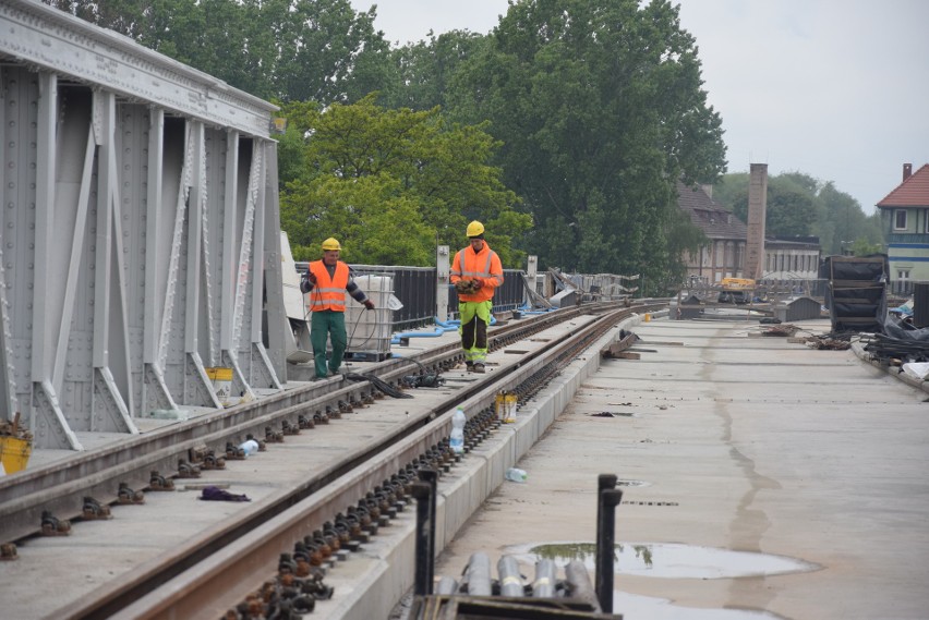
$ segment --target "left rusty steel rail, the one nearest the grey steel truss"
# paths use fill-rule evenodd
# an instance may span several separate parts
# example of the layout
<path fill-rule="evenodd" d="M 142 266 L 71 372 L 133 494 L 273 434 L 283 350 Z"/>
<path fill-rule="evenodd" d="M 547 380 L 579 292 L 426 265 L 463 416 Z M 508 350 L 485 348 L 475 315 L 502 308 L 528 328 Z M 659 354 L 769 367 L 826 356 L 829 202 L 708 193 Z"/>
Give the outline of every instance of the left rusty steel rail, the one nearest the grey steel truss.
<path fill-rule="evenodd" d="M 564 308 L 539 315 L 533 320 L 502 326 L 492 330 L 491 347 L 503 345 L 579 314 L 605 312 L 615 305 L 600 303 Z M 409 374 L 410 361 L 436 370 L 460 357 L 458 344 L 450 343 L 421 354 L 373 364 L 369 372 L 387 382 L 399 384 L 400 378 Z M 263 437 L 266 427 L 279 427 L 281 421 L 295 418 L 301 412 L 338 411 L 339 402 L 360 403 L 375 392 L 370 382 L 314 381 L 177 425 L 130 436 L 58 463 L 4 476 L 0 478 L 0 543 L 36 534 L 46 510 L 61 519 L 74 519 L 81 514 L 85 496 L 110 503 L 117 499 L 120 483 L 132 488 L 145 488 L 153 470 L 166 474 L 174 472 L 178 461 L 190 460 L 194 450 L 214 447 L 217 453 L 222 454 L 227 441 L 238 446 L 249 434 Z"/>

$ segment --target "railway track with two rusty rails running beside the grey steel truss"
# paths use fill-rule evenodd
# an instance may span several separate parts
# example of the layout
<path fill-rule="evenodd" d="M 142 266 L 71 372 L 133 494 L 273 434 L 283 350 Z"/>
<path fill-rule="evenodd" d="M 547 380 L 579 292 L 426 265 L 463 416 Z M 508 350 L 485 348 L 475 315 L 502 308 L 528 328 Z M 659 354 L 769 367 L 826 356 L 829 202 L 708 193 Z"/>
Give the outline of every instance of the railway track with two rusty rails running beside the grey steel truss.
<path fill-rule="evenodd" d="M 177 471 L 179 462 L 186 463 L 188 469 L 202 465 L 195 454 L 209 450 L 222 454 L 227 443 L 239 446 L 249 435 L 273 441 L 274 436 L 282 436 L 288 427 L 299 428 L 303 422 L 301 435 L 283 437 L 285 446 L 293 453 L 282 454 L 281 459 L 290 457 L 305 463 L 305 472 L 293 471 L 291 464 L 290 473 L 295 475 L 280 475 L 279 484 L 264 497 L 256 497 L 248 508 L 238 509 L 205 528 L 193 527 L 193 534 L 185 530 L 188 533 L 178 544 L 149 554 L 145 561 L 122 571 L 118 579 L 102 581 L 79 600 L 67 601 L 49 616 L 217 617 L 274 574 L 280 554 L 292 549 L 297 540 L 316 531 L 324 533 L 324 538 L 331 536 L 337 533 L 336 525 L 342 530 L 358 525 L 359 514 L 365 511 L 367 516 L 379 512 L 373 527 L 369 526 L 369 531 L 376 531 L 378 522 L 386 525 L 401 511 L 403 502 L 397 495 L 402 495 L 405 481 L 415 476 L 418 467 L 450 470 L 453 465 L 444 451 L 449 429 L 445 413 L 455 405 L 463 404 L 469 412 L 479 412 L 472 413 L 469 423 L 470 440 L 486 437 L 493 424 L 492 404 L 499 391 L 516 391 L 521 402 L 531 398 L 560 367 L 624 317 L 654 312 L 664 305 L 661 301 L 619 309 L 608 304 L 590 305 L 494 328 L 491 349 L 507 354 L 503 355 L 504 362 L 480 380 L 451 370 L 460 362 L 459 348 L 454 341 L 366 368 L 369 376 L 376 376 L 396 389 L 403 377 L 417 370 L 445 373 L 449 377 L 445 388 L 415 390 L 415 406 L 407 399 L 382 398 L 371 380 L 330 379 L 10 476 L 0 481 L 2 539 L 24 542 L 23 549 L 28 549 L 28 539 L 24 537 L 36 533 L 43 511 L 55 511 L 62 519 L 77 516 L 80 508 L 75 507 L 82 506 L 84 497 L 96 497 L 102 504 L 116 502 L 120 483 L 144 488 L 152 481 L 153 471 L 164 472 L 172 483 L 194 490 L 210 481 L 230 478 L 229 472 L 238 466 L 231 460 L 225 470 L 203 472 L 203 478 L 179 478 L 171 472 Z M 515 348 L 517 343 L 519 349 Z M 317 428 L 306 428 L 311 420 Z M 328 445 L 338 445 L 337 455 L 325 451 Z M 282 449 L 269 443 L 267 453 Z M 260 459 L 254 462 L 257 464 Z M 249 483 L 232 486 L 241 484 Z M 161 501 L 170 495 L 147 493 L 146 500 L 150 498 L 154 503 L 156 498 Z M 387 497 L 391 501 L 386 501 Z M 121 506 L 117 508 L 123 510 Z M 119 516 L 122 521 L 122 515 Z M 329 534 L 325 534 L 327 526 Z M 84 527 L 79 521 L 73 535 L 81 534 Z M 357 547 L 358 540 L 355 537 L 347 546 Z M 341 551 L 333 559 L 345 556 L 345 549 Z M 248 561 L 241 561 L 243 557 Z M 9 570 L 0 569 L 2 581 L 14 584 L 17 564 L 27 560 L 23 557 L 17 562 L 4 562 L 2 569 Z M 12 592 L 9 587 L 3 589 Z"/>

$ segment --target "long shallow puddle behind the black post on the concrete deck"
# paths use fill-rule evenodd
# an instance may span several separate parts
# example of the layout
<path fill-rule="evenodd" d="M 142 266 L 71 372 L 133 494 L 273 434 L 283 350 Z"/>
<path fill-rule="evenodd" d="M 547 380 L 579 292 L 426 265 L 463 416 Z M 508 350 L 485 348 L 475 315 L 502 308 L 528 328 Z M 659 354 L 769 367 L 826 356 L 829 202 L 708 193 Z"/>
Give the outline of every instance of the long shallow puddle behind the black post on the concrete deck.
<path fill-rule="evenodd" d="M 588 570 L 596 568 L 594 543 L 529 543 L 508 547 L 505 552 L 520 562 L 534 564 L 547 558 L 564 567 L 580 560 Z M 634 574 L 666 579 L 731 579 L 767 576 L 818 570 L 817 564 L 784 556 L 731 551 L 714 547 L 697 547 L 675 543 L 617 543 L 614 548 L 617 575 Z"/>

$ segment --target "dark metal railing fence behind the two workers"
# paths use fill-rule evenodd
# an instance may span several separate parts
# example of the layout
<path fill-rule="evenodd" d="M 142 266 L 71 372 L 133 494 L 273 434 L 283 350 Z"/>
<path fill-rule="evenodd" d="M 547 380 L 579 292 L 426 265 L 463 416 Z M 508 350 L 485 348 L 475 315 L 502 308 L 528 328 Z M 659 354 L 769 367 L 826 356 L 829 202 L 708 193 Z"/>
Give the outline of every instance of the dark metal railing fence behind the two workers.
<path fill-rule="evenodd" d="M 297 263 L 297 272 L 303 273 L 307 263 Z M 393 293 L 403 307 L 394 311 L 394 331 L 402 331 L 435 323 L 436 268 L 394 267 L 387 265 L 350 265 L 352 276 L 384 276 L 393 280 Z M 524 272 L 504 269 L 504 283 L 494 293 L 494 313 L 514 311 L 526 300 Z M 458 293 L 448 284 L 448 318 L 458 316 Z"/>

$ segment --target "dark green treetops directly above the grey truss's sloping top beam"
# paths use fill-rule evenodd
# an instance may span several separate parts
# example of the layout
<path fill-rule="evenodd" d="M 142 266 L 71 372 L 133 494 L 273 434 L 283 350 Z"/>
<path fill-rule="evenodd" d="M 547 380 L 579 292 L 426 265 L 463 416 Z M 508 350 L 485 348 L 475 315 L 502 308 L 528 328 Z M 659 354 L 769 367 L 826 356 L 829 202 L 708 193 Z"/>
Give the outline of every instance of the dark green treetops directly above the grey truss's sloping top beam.
<path fill-rule="evenodd" d="M 357 101 L 399 76 L 349 0 L 46 0 L 265 99 Z"/>

